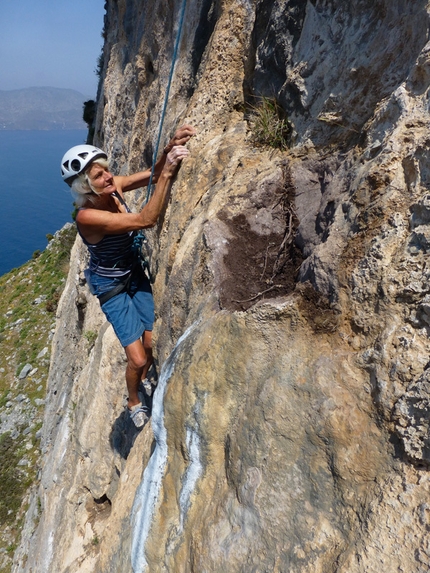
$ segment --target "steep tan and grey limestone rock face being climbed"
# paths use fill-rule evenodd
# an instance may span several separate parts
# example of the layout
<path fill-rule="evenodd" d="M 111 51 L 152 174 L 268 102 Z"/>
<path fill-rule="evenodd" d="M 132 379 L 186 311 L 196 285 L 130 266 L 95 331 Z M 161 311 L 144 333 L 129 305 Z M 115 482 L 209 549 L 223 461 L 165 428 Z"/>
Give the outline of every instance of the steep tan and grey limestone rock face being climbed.
<path fill-rule="evenodd" d="M 180 10 L 107 2 L 113 171 L 151 161 Z M 421 0 L 186 7 L 163 137 L 198 134 L 149 233 L 151 425 L 124 418 L 77 242 L 15 573 L 429 570 L 428 21 Z M 254 142 L 261 97 L 286 150 Z"/>

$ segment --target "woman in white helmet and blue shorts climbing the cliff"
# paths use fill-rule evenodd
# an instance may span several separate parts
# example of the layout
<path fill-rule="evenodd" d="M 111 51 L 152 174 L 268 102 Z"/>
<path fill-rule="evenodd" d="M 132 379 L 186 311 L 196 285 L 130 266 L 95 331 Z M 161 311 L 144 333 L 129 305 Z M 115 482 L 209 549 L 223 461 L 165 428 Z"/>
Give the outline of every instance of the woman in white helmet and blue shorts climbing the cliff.
<path fill-rule="evenodd" d="M 148 184 L 151 170 L 115 176 L 109 172 L 107 155 L 91 145 L 69 149 L 61 161 L 64 181 L 78 206 L 76 224 L 90 252 L 88 283 L 125 349 L 128 412 L 142 427 L 147 409 L 139 385 L 152 364 L 154 303 L 151 286 L 133 248 L 136 232 L 153 227 L 166 203 L 180 163 L 188 156 L 184 145 L 195 130 L 184 125 L 164 148 L 155 164 L 155 191 L 139 213 L 132 213 L 124 193 Z"/>

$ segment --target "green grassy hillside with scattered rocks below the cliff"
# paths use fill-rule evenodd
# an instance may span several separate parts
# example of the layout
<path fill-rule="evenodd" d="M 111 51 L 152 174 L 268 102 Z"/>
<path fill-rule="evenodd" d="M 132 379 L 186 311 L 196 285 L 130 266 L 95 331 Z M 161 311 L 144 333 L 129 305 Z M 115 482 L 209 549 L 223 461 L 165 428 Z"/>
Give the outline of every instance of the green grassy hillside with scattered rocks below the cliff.
<path fill-rule="evenodd" d="M 75 237 L 75 225 L 67 224 L 42 253 L 0 277 L 1 573 L 10 572 L 37 481 L 50 340 Z"/>

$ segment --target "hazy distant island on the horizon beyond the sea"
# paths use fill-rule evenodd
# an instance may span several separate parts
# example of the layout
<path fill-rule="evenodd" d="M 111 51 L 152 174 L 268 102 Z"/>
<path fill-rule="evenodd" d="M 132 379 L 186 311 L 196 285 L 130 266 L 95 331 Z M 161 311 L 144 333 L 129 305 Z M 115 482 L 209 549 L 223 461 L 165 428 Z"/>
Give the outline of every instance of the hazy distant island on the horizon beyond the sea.
<path fill-rule="evenodd" d="M 91 99 L 75 90 L 34 87 L 0 90 L 0 129 L 88 129 L 83 104 Z"/>

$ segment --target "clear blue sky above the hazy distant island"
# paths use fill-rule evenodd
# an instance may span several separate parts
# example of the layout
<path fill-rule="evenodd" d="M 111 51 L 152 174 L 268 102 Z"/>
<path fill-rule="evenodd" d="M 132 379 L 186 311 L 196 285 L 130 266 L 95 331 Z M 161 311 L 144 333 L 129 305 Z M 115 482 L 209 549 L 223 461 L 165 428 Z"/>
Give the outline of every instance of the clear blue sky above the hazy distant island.
<path fill-rule="evenodd" d="M 0 0 L 0 90 L 68 88 L 96 97 L 105 0 Z"/>

